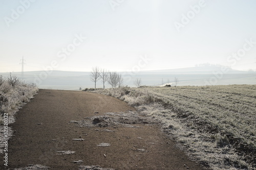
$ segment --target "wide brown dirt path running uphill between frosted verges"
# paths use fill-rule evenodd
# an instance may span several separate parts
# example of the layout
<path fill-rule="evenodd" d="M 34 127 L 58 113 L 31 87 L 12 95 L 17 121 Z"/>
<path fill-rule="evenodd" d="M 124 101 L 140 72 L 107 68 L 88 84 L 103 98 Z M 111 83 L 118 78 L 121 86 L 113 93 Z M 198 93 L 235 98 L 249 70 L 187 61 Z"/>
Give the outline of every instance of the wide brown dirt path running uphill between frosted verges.
<path fill-rule="evenodd" d="M 15 136 L 8 143 L 11 151 L 8 168 L 41 164 L 49 169 L 85 169 L 81 165 L 113 169 L 202 169 L 174 148 L 174 142 L 156 125 L 138 118 L 132 111 L 135 109 L 111 96 L 39 90 L 18 111 L 16 122 L 11 125 Z M 115 118 L 113 113 L 119 117 Z M 129 122 L 125 114 L 137 119 Z M 97 146 L 100 143 L 110 146 Z M 66 155 L 57 151 L 75 153 Z M 82 162 L 72 162 L 78 160 Z M 7 169 L 3 155 L 1 162 L 0 169 Z"/>

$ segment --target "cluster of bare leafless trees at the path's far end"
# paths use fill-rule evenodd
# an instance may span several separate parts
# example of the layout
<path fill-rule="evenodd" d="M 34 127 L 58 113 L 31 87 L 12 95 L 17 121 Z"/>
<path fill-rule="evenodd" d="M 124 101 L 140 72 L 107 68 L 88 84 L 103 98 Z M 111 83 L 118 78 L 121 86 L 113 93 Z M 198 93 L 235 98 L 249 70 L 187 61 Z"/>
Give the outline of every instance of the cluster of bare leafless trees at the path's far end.
<path fill-rule="evenodd" d="M 94 82 L 94 88 L 96 88 L 96 83 L 101 80 L 103 83 L 103 88 L 105 88 L 105 83 L 108 83 L 112 88 L 120 87 L 123 84 L 122 75 L 118 74 L 116 71 L 107 71 L 99 67 L 93 67 L 90 74 L 91 81 Z"/>

